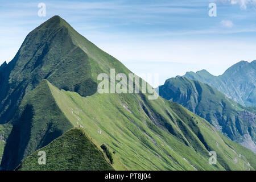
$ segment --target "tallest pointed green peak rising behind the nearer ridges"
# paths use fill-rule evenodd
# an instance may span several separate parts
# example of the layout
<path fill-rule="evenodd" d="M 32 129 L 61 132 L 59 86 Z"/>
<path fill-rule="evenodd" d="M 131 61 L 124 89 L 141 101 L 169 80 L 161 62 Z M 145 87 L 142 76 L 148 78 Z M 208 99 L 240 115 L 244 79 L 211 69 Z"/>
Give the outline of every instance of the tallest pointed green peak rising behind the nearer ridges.
<path fill-rule="evenodd" d="M 31 31 L 14 59 L 9 64 L 3 63 L 0 67 L 0 128 L 3 128 L 3 130 L 0 130 L 0 135 L 4 135 L 5 140 L 8 138 L 10 141 L 14 139 L 13 137 L 19 136 L 15 134 L 15 129 L 18 126 L 13 127 L 13 123 L 15 125 L 18 125 L 16 123 L 23 124 L 22 121 L 13 122 L 17 120 L 14 116 L 18 117 L 18 113 L 20 113 L 18 107 L 23 97 L 34 90 L 44 78 L 47 78 L 60 89 L 71 90 L 85 97 L 96 92 L 97 75 L 104 71 L 109 73 L 109 68 L 115 68 L 123 73 L 129 72 L 117 59 L 101 51 L 79 35 L 65 20 L 59 16 L 53 16 Z M 42 107 L 47 109 L 47 106 Z M 27 106 L 25 111 L 27 114 L 33 114 L 30 105 Z M 29 126 L 27 125 L 27 127 Z M 69 124 L 65 127 L 70 128 Z M 30 131 L 29 128 L 27 130 Z M 53 127 L 52 130 L 53 133 L 59 132 L 56 127 Z M 61 131 L 59 135 L 62 133 Z M 59 137 L 59 135 L 54 135 L 48 142 Z M 40 138 L 42 137 L 44 136 L 40 136 Z M 0 158 L 2 158 L 5 144 L 6 142 L 1 142 Z M 7 148 L 10 147 L 7 146 Z M 12 147 L 15 148 L 15 144 Z M 39 147 L 42 146 L 34 146 L 32 151 Z M 28 154 L 31 152 L 28 152 Z M 7 153 L 7 156 L 11 155 Z M 15 161 L 18 162 L 24 156 L 23 154 L 16 156 Z M 9 160 L 9 157 L 7 160 Z M 15 166 L 16 162 L 5 164 L 7 163 L 5 160 L 2 162 L 2 166 Z"/>

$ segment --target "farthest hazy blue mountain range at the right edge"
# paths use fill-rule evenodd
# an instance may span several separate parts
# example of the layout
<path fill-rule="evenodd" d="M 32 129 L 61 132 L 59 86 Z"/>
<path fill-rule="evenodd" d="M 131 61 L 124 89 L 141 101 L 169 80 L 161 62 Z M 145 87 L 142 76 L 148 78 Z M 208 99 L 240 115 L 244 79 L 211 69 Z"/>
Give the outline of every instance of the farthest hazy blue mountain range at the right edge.
<path fill-rule="evenodd" d="M 240 61 L 220 76 L 213 76 L 206 70 L 187 72 L 184 76 L 213 86 L 243 106 L 256 106 L 255 75 L 256 60 Z"/>

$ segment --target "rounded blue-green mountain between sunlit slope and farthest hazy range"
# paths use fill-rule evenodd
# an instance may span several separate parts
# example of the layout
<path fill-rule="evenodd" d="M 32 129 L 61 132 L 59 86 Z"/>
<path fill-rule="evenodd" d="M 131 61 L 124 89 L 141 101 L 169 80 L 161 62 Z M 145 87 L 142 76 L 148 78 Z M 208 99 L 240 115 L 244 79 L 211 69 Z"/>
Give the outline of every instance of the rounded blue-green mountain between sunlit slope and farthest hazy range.
<path fill-rule="evenodd" d="M 199 81 L 176 77 L 159 86 L 159 95 L 207 119 L 224 135 L 256 152 L 256 114 L 218 90 Z"/>

